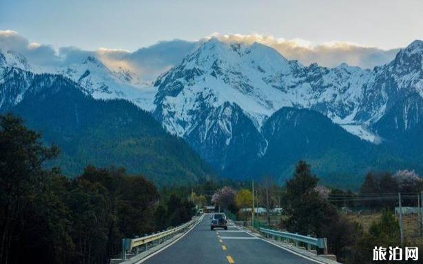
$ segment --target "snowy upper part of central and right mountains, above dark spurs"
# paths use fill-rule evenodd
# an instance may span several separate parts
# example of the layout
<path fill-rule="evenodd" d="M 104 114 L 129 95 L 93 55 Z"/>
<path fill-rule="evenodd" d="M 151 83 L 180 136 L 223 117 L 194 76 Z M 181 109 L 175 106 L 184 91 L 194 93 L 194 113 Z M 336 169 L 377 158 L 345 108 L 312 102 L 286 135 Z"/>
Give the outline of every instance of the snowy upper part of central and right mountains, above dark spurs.
<path fill-rule="evenodd" d="M 422 45 L 414 41 L 391 63 L 362 70 L 344 63 L 305 67 L 262 44 L 211 39 L 156 81 L 156 116 L 169 132 L 184 136 L 203 110 L 200 97 L 209 108 L 236 103 L 258 129 L 282 107 L 308 108 L 375 141 L 369 127 L 387 108 L 409 92 L 423 94 Z"/>

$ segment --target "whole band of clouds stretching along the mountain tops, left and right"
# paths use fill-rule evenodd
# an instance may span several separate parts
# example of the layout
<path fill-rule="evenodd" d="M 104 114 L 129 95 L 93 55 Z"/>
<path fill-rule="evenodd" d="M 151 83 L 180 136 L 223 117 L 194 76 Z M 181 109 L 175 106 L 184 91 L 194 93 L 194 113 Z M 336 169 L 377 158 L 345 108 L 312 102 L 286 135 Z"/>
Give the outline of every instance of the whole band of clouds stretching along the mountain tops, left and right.
<path fill-rule="evenodd" d="M 97 57 L 111 70 L 127 68 L 141 79 L 152 81 L 159 74 L 178 64 L 187 54 L 194 51 L 202 41 L 216 37 L 220 41 L 243 43 L 262 43 L 276 49 L 287 59 L 297 59 L 304 65 L 318 63 L 327 67 L 336 67 L 348 63 L 362 68 L 373 68 L 391 61 L 398 49 L 381 50 L 375 47 L 342 41 L 313 43 L 305 39 L 276 39 L 271 35 L 260 34 L 218 34 L 214 33 L 200 41 L 161 41 L 147 48 L 134 52 L 112 48 L 99 50 L 81 50 L 76 47 L 63 47 L 54 50 L 51 45 L 31 43 L 18 32 L 0 30 L 0 49 L 13 50 L 27 57 L 34 65 L 46 67 L 69 63 L 80 63 L 88 56 Z"/>

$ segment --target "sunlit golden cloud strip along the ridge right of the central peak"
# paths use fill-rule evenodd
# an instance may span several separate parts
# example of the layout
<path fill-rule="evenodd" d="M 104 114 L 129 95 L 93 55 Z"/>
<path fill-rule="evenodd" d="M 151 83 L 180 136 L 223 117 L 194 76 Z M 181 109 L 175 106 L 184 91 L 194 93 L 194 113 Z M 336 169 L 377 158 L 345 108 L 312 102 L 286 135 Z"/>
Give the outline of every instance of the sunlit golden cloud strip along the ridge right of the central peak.
<path fill-rule="evenodd" d="M 362 68 L 373 68 L 391 61 L 399 49 L 381 50 L 357 43 L 330 41 L 313 43 L 304 39 L 276 39 L 260 34 L 211 34 L 220 41 L 241 41 L 244 43 L 262 43 L 278 50 L 287 59 L 296 59 L 304 65 L 318 63 L 326 67 L 336 67 L 347 63 Z"/>

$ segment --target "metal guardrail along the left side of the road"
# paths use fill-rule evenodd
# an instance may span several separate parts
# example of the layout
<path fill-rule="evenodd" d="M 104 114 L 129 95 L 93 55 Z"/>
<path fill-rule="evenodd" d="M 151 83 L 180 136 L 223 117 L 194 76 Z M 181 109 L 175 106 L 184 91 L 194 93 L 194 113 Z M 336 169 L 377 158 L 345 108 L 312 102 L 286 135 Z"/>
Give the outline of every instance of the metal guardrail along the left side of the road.
<path fill-rule="evenodd" d="M 198 221 L 198 217 L 194 217 L 194 219 L 187 223 L 184 223 L 183 225 L 179 225 L 163 232 L 150 234 L 148 236 L 143 236 L 140 238 L 123 238 L 122 259 L 125 260 L 127 252 L 132 252 L 132 249 L 134 249 L 134 247 L 136 248 L 135 254 L 138 254 L 138 247 L 142 245 L 145 245 L 145 250 L 148 250 L 148 243 L 153 243 L 153 246 L 155 242 L 158 242 L 158 244 L 160 244 L 161 242 L 165 241 L 166 238 L 174 236 L 175 234 L 178 234 L 178 232 L 182 232 L 183 230 L 187 229 L 187 227 L 192 226 L 194 223 L 196 223 L 196 221 Z"/>

